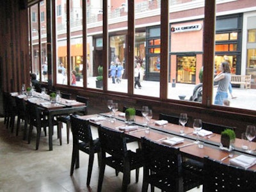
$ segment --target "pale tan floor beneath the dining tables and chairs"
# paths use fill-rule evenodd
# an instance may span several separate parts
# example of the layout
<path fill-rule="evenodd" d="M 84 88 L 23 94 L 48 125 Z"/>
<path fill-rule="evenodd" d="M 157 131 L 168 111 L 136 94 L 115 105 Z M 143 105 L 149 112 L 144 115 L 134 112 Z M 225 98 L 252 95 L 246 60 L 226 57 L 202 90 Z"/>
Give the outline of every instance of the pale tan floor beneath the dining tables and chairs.
<path fill-rule="evenodd" d="M 53 150 L 48 150 L 47 137 L 42 134 L 39 150 L 35 150 L 35 130 L 31 141 L 22 140 L 22 131 L 15 136 L 6 129 L 3 118 L 0 118 L 0 192 L 14 191 L 97 191 L 99 168 L 97 156 L 93 164 L 92 180 L 90 187 L 86 186 L 88 155 L 80 152 L 80 168 L 74 171 L 70 177 L 70 162 L 72 154 L 72 134 L 70 144 L 67 144 L 65 127 L 62 131 L 63 144 L 60 146 L 57 140 L 56 129 L 53 135 Z M 23 127 L 23 124 L 22 126 Z M 97 134 L 96 129 L 92 129 Z M 136 145 L 129 144 L 129 147 Z M 127 191 L 141 191 L 143 169 L 140 169 L 139 182 L 136 183 L 135 172 L 131 173 L 131 184 Z M 115 171 L 106 166 L 102 191 L 121 191 L 122 173 L 118 177 Z M 150 191 L 148 189 L 148 191 Z M 155 191 L 160 191 L 155 189 Z M 191 191 L 202 191 L 202 188 Z"/>

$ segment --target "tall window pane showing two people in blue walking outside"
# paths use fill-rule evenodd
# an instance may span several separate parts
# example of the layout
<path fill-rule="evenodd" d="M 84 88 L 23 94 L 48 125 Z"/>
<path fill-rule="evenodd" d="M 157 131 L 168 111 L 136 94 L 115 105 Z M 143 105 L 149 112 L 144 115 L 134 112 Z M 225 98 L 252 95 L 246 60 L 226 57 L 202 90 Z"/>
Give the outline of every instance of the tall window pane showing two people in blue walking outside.
<path fill-rule="evenodd" d="M 125 63 L 125 56 L 127 52 L 126 36 L 127 36 L 127 1 L 111 1 L 108 0 L 110 14 L 108 17 L 108 28 L 113 29 L 114 26 L 122 28 L 116 33 L 109 33 L 109 78 L 108 90 L 113 92 L 127 93 L 127 76 L 125 69 L 127 65 L 132 63 Z M 125 30 L 126 29 L 126 30 Z"/>

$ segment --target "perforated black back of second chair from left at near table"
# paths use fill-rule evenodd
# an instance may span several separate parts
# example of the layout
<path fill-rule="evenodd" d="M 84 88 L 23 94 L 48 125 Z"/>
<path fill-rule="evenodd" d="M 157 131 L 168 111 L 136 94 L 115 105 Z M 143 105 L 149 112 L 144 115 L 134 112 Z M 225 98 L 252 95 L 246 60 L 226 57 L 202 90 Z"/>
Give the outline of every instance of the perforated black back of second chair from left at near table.
<path fill-rule="evenodd" d="M 127 156 L 127 147 L 124 133 L 108 129 L 99 125 L 99 140 L 102 155 L 105 156 L 106 152 L 113 157 L 122 159 Z"/>

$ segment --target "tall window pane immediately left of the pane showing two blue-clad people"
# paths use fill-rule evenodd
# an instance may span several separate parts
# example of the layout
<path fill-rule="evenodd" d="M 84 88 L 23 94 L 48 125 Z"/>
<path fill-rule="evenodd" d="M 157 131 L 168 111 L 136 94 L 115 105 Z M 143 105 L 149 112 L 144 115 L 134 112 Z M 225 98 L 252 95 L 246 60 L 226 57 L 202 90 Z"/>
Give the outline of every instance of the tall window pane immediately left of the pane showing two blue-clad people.
<path fill-rule="evenodd" d="M 86 22 L 87 22 L 87 87 L 102 89 L 102 54 L 103 54 L 103 1 L 87 1 Z M 97 36 L 93 36 L 97 31 Z M 99 70 L 98 70 L 99 69 Z"/>

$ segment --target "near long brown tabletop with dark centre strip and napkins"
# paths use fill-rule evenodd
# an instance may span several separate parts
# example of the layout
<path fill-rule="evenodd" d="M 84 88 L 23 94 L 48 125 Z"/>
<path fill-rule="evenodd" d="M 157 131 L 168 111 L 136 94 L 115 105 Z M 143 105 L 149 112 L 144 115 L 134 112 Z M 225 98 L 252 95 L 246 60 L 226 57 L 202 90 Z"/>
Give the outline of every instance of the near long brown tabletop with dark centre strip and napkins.
<path fill-rule="evenodd" d="M 102 125 L 104 127 L 108 127 L 111 129 L 119 130 L 120 127 L 125 126 L 125 118 L 124 116 L 119 116 L 120 111 L 116 112 L 115 118 L 116 120 L 113 121 L 112 117 L 109 113 L 100 113 L 95 115 L 84 115 L 80 118 L 90 120 L 90 124 L 92 125 Z M 100 121 L 93 121 L 93 118 L 97 117 L 104 117 Z M 103 120 L 104 119 L 104 120 Z M 167 138 L 177 137 L 177 138 L 184 138 L 184 142 L 179 143 L 177 145 L 173 145 L 173 147 L 180 148 L 180 152 L 184 157 L 188 157 L 191 159 L 195 159 L 196 161 L 204 162 L 204 157 L 208 156 L 212 159 L 216 159 L 218 161 L 222 161 L 222 163 L 229 164 L 229 159 L 226 158 L 222 160 L 224 157 L 227 157 L 230 153 L 233 154 L 233 157 L 237 157 L 241 154 L 249 156 L 249 157 L 256 157 L 256 143 L 252 142 L 252 152 L 248 153 L 246 150 L 241 148 L 241 139 L 236 138 L 235 148 L 232 151 L 221 150 L 220 149 L 220 134 L 212 133 L 212 136 L 204 136 L 200 137 L 201 141 L 204 141 L 204 148 L 199 148 L 194 142 L 196 140 L 196 135 L 194 129 L 191 127 L 185 127 L 184 132 L 185 135 L 182 136 L 179 133 L 180 126 L 176 124 L 165 124 L 165 125 L 156 125 L 155 122 L 157 120 L 150 120 L 148 123 L 148 128 L 143 125 L 144 120 L 142 116 L 136 116 L 136 122 L 134 125 L 138 127 L 134 131 L 127 131 L 125 132 L 125 136 L 128 138 L 132 138 L 138 140 L 140 142 L 141 137 L 149 138 L 152 141 L 157 141 L 161 143 L 163 140 Z M 256 170 L 256 164 L 251 166 L 250 169 Z"/>

